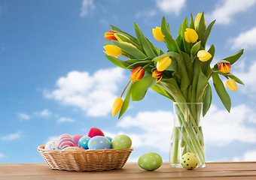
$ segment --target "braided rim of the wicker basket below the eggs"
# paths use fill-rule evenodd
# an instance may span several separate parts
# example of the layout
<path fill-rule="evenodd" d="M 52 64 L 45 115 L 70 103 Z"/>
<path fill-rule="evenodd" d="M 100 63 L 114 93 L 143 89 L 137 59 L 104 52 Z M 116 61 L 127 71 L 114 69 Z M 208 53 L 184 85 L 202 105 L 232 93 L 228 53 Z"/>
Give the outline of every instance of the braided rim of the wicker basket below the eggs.
<path fill-rule="evenodd" d="M 44 153 L 104 153 L 104 152 L 113 152 L 113 151 L 133 151 L 133 147 L 130 148 L 108 148 L 108 149 L 85 149 L 81 151 L 62 151 L 62 150 L 49 150 L 44 149 L 44 145 L 38 146 L 38 151 L 43 151 Z"/>

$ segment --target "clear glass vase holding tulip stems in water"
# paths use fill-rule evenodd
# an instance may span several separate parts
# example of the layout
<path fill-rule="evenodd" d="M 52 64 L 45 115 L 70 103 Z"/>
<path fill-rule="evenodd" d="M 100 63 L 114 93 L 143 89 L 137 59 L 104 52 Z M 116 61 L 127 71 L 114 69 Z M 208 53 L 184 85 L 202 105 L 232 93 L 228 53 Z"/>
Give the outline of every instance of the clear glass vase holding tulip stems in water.
<path fill-rule="evenodd" d="M 203 103 L 174 103 L 174 127 L 169 151 L 169 162 L 172 167 L 181 167 L 181 156 L 187 152 L 197 154 L 200 163 L 205 167 L 205 148 L 203 131 L 200 125 Z"/>

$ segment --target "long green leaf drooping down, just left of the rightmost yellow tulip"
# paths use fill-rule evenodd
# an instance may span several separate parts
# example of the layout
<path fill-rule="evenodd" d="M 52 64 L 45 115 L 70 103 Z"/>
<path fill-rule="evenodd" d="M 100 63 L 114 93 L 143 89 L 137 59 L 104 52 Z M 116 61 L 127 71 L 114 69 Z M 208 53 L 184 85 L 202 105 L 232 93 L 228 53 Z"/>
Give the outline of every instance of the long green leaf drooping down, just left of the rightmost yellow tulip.
<path fill-rule="evenodd" d="M 221 102 L 226 108 L 226 110 L 230 112 L 230 108 L 231 108 L 230 95 L 228 95 L 221 81 L 221 78 L 218 77 L 218 74 L 212 74 L 212 80 L 213 80 L 213 85 L 215 86 L 215 91 L 218 94 L 218 97 L 221 99 Z"/>

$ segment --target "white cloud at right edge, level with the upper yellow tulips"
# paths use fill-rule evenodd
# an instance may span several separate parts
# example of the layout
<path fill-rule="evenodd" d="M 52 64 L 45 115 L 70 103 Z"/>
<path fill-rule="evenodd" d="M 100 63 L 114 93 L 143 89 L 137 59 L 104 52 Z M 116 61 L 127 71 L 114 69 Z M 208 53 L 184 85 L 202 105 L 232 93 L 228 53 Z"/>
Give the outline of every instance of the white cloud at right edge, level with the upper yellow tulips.
<path fill-rule="evenodd" d="M 238 37 L 229 40 L 231 49 L 255 49 L 256 48 L 256 26 L 248 31 L 241 32 Z"/>

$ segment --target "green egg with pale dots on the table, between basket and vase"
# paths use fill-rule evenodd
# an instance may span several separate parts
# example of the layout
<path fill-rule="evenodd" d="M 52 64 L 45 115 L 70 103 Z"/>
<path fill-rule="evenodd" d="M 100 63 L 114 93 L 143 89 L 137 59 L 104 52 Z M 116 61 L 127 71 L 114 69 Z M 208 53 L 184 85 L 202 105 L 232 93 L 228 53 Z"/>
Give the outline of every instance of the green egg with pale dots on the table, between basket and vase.
<path fill-rule="evenodd" d="M 162 157 L 155 152 L 148 152 L 139 157 L 138 164 L 142 169 L 152 171 L 162 165 Z"/>

